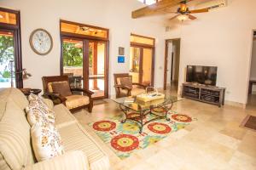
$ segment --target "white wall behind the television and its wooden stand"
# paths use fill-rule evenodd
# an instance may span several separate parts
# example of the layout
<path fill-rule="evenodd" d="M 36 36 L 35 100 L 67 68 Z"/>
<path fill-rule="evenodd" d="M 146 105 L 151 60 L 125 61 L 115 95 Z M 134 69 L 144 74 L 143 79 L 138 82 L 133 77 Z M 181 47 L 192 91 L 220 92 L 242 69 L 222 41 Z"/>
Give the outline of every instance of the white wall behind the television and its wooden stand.
<path fill-rule="evenodd" d="M 181 37 L 179 86 L 186 65 L 216 65 L 217 85 L 227 88 L 226 99 L 247 103 L 255 7 L 255 0 L 231 0 L 228 7 L 195 14 L 198 20 L 182 26 L 169 23 L 166 39 Z"/>

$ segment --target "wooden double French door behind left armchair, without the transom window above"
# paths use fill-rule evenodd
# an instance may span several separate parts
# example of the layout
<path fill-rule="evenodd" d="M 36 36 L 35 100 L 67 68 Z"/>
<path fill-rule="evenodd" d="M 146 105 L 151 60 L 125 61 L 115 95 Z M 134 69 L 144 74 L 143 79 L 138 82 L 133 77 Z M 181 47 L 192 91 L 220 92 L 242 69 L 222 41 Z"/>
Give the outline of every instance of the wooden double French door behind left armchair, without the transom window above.
<path fill-rule="evenodd" d="M 61 74 L 73 88 L 89 89 L 93 99 L 108 98 L 108 42 L 61 37 Z"/>

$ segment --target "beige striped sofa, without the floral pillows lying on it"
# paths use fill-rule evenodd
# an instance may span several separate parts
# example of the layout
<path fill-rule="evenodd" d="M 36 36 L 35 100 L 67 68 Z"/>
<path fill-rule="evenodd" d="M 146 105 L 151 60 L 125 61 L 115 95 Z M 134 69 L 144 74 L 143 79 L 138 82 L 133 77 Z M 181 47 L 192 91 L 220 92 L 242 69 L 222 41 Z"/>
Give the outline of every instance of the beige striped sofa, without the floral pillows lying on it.
<path fill-rule="evenodd" d="M 108 169 L 108 156 L 64 105 L 53 105 L 55 126 L 61 134 L 65 154 L 48 161 L 35 161 L 30 125 L 24 109 L 26 96 L 16 88 L 0 89 L 0 169 Z"/>

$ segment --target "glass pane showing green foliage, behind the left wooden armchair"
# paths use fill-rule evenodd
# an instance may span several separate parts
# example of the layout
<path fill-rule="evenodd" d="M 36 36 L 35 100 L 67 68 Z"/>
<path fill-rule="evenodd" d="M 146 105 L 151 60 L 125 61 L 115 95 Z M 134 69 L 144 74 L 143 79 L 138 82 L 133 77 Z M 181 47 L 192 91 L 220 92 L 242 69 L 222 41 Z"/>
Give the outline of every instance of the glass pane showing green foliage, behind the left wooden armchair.
<path fill-rule="evenodd" d="M 83 83 L 83 41 L 64 39 L 63 74 L 69 77 L 71 88 L 84 88 Z"/>

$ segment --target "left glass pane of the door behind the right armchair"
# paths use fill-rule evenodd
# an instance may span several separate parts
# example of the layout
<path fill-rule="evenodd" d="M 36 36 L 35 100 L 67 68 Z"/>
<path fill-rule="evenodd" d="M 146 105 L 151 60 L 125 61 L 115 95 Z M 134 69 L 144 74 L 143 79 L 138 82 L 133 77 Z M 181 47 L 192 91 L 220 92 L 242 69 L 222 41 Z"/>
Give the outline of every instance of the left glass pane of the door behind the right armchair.
<path fill-rule="evenodd" d="M 132 82 L 139 82 L 140 48 L 130 48 L 130 75 Z"/>

